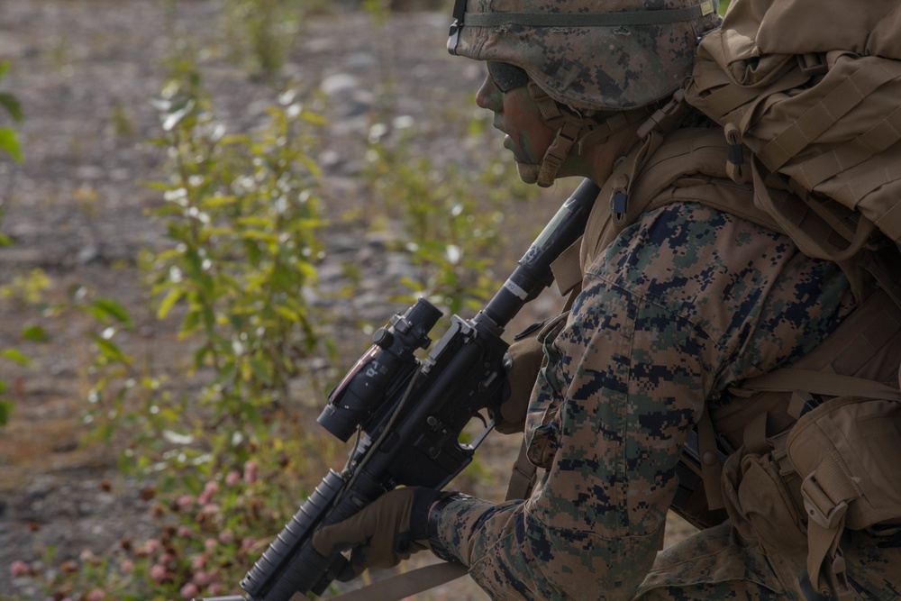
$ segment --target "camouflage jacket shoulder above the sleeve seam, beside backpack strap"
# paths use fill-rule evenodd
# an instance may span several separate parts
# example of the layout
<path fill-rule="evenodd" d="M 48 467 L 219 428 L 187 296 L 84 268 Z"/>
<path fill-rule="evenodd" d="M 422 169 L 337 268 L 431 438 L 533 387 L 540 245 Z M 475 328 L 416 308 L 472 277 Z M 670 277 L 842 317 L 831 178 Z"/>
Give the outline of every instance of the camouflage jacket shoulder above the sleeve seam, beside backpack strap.
<path fill-rule="evenodd" d="M 613 287 L 725 343 L 734 317 L 753 319 L 797 255 L 783 234 L 698 203 L 673 203 L 623 230 L 586 270 L 583 289 L 591 296 Z"/>

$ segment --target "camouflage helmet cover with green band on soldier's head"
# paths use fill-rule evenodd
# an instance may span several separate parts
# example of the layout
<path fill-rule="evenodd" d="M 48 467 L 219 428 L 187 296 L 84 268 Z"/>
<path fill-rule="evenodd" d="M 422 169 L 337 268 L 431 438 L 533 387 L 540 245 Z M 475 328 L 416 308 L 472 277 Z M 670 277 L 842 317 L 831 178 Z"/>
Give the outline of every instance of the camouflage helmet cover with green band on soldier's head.
<path fill-rule="evenodd" d="M 691 73 L 718 0 L 457 0 L 451 54 L 525 69 L 558 102 L 627 109 Z"/>

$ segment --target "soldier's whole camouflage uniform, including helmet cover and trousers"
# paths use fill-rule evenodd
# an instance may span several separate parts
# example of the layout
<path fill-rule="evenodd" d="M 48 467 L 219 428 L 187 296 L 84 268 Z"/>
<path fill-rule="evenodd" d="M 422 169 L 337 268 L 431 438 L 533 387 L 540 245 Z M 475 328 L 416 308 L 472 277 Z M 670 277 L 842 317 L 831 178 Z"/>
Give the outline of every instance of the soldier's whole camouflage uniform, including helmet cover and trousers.
<path fill-rule="evenodd" d="M 549 185 L 548 165 L 604 143 L 584 109 L 635 114 L 678 88 L 696 38 L 720 23 L 716 5 L 468 0 L 448 48 L 523 68 L 571 117 L 544 117 L 559 128 L 537 180 Z M 606 126 L 618 114 L 592 115 Z M 657 552 L 681 445 L 705 403 L 742 403 L 730 384 L 803 357 L 855 307 L 835 264 L 693 202 L 700 195 L 680 185 L 670 196 L 685 202 L 642 214 L 591 263 L 565 321 L 542 332 L 548 362 L 525 434 L 545 471 L 531 498 L 463 499 L 441 513 L 441 541 L 493 598 L 797 597 L 805 557 L 765 555 L 728 523 Z M 899 547 L 898 533 L 846 533 L 862 598 L 901 596 Z"/>

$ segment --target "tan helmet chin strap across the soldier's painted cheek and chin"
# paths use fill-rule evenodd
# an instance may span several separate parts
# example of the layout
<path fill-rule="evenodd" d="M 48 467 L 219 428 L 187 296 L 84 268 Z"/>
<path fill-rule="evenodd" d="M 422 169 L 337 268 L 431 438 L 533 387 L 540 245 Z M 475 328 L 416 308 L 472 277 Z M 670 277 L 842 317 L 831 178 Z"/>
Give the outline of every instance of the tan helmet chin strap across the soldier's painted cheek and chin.
<path fill-rule="evenodd" d="M 557 130 L 551 146 L 544 153 L 542 162 L 537 165 L 518 164 L 520 178 L 526 183 L 537 183 L 540 187 L 549 187 L 557 178 L 557 172 L 569 157 L 573 147 L 581 152 L 586 142 L 602 143 L 615 132 L 619 132 L 633 123 L 647 119 L 647 110 L 616 111 L 605 119 L 584 117 L 567 106 L 560 105 L 551 98 L 542 87 L 533 81 L 529 82 L 529 94 L 538 105 L 544 123 Z"/>

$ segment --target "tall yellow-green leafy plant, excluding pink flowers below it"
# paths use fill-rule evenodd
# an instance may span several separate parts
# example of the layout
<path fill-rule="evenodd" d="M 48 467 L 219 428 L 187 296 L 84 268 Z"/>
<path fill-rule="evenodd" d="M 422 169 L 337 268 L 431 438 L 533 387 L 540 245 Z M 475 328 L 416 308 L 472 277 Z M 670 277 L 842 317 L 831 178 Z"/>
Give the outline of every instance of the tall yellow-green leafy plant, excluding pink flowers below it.
<path fill-rule="evenodd" d="M 141 264 L 159 319 L 181 316 L 188 376 L 200 384 L 186 390 L 148 373 L 107 329 L 96 336 L 91 419 L 106 439 L 134 434 L 129 463 L 208 478 L 247 460 L 279 417 L 293 419 L 289 382 L 311 354 L 330 353 L 318 332 L 325 317 L 306 300 L 323 252 L 318 169 L 307 155 L 321 121 L 285 94 L 262 131 L 227 134 L 190 69 L 158 106 L 171 176 L 152 185 L 165 199 L 154 214 L 171 246 Z"/>

